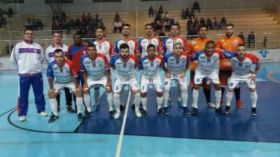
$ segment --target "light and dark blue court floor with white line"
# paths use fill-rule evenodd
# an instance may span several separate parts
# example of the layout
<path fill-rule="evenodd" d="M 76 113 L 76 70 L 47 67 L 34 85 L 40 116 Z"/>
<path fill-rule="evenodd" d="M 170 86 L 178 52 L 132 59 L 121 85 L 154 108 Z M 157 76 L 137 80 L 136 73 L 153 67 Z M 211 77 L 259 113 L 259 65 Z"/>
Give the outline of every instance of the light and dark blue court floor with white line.
<path fill-rule="evenodd" d="M 150 90 L 148 117 L 137 119 L 130 102 L 121 119 L 110 119 L 102 90 L 101 107 L 93 117 L 78 122 L 76 114 L 66 112 L 62 94 L 59 119 L 48 124 L 49 117 L 36 115 L 31 90 L 27 121 L 18 121 L 17 73 L 0 71 L 0 156 L 279 157 L 280 63 L 263 63 L 257 78 L 258 117 L 251 117 L 251 100 L 244 85 L 241 87 L 243 110 L 237 110 L 233 98 L 228 116 L 216 114 L 206 107 L 201 90 L 197 117 L 181 112 L 176 105 L 174 87 L 169 116 L 156 114 L 155 93 Z M 46 79 L 44 84 L 44 94 L 48 94 Z M 188 90 L 190 108 L 192 96 Z M 125 97 L 128 96 L 126 91 Z M 45 100 L 50 114 L 48 96 Z"/>

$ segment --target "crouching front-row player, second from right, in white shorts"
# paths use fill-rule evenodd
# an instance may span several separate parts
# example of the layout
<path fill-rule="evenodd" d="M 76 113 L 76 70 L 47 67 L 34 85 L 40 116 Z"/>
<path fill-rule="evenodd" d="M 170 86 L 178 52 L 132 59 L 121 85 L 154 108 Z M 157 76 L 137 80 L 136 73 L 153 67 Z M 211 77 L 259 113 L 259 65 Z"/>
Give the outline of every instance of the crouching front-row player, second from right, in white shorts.
<path fill-rule="evenodd" d="M 221 100 L 221 84 L 218 74 L 215 71 L 215 66 L 218 65 L 218 61 L 220 59 L 223 59 L 223 53 L 220 50 L 215 50 L 215 42 L 213 40 L 209 40 L 207 43 L 205 43 L 204 50 L 191 55 L 190 61 L 197 60 L 197 68 L 195 69 L 195 79 L 193 85 L 193 111 L 190 112 L 190 114 L 195 116 L 198 112 L 198 91 L 204 78 L 211 80 L 212 84 L 214 85 L 216 112 L 221 112 L 221 107 L 219 104 Z"/>

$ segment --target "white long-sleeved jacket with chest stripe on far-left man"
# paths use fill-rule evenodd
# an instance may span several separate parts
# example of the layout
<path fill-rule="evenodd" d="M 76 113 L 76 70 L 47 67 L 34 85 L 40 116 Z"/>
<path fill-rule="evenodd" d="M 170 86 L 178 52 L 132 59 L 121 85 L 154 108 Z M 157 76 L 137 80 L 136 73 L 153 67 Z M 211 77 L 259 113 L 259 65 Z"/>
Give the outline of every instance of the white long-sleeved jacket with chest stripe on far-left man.
<path fill-rule="evenodd" d="M 45 57 L 41 45 L 23 40 L 13 47 L 10 62 L 18 68 L 20 74 L 41 73 Z"/>

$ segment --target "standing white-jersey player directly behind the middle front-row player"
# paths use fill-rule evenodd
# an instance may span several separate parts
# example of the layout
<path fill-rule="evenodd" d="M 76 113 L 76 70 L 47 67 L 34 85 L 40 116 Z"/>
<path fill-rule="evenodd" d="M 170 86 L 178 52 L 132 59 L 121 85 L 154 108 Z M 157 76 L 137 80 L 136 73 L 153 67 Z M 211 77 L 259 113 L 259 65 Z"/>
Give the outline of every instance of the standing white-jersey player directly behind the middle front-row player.
<path fill-rule="evenodd" d="M 148 55 L 147 47 L 150 44 L 155 45 L 156 54 L 162 55 L 163 52 L 162 41 L 159 38 L 155 38 L 152 24 L 145 25 L 145 32 L 146 32 L 146 36 L 139 40 L 139 49 L 140 49 L 141 57 L 143 58 L 146 55 Z"/>

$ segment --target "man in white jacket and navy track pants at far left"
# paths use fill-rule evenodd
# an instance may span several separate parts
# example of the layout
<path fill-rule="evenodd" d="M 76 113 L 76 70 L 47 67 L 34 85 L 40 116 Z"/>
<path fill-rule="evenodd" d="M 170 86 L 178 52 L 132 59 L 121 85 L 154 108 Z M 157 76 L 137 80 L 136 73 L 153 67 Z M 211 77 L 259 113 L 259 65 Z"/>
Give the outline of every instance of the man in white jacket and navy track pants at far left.
<path fill-rule="evenodd" d="M 25 29 L 22 42 L 13 47 L 10 54 L 10 62 L 18 68 L 19 89 L 18 89 L 18 117 L 20 121 L 25 121 L 28 111 L 29 89 L 32 86 L 35 97 L 35 104 L 38 115 L 48 116 L 45 112 L 45 97 L 43 95 L 42 65 L 44 60 L 41 45 L 35 43 L 34 31 Z"/>

